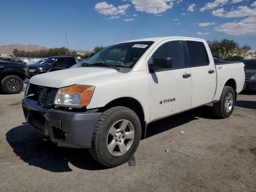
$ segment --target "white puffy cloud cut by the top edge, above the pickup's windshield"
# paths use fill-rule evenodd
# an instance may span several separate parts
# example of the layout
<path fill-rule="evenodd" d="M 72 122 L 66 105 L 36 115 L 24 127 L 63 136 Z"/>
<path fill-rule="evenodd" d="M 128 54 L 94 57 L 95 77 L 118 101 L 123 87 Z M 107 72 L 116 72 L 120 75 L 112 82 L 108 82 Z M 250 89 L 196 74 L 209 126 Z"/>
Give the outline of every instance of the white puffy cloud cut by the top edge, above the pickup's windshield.
<path fill-rule="evenodd" d="M 132 0 L 136 11 L 159 14 L 171 9 L 174 0 Z"/>

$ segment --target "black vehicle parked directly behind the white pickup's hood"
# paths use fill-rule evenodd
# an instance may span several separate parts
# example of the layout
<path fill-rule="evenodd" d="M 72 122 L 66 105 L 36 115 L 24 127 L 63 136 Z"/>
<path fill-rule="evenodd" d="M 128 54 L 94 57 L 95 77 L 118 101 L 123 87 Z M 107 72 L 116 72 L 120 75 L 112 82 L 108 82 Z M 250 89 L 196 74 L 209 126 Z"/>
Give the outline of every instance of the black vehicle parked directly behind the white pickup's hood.
<path fill-rule="evenodd" d="M 69 57 L 69 56 L 52 56 L 44 60 L 42 63 L 35 63 L 35 64 L 30 64 L 29 67 L 29 77 L 31 78 L 32 76 L 46 73 L 49 69 L 51 68 L 62 68 L 62 69 L 67 69 L 70 68 L 76 64 L 76 60 L 74 57 Z"/>

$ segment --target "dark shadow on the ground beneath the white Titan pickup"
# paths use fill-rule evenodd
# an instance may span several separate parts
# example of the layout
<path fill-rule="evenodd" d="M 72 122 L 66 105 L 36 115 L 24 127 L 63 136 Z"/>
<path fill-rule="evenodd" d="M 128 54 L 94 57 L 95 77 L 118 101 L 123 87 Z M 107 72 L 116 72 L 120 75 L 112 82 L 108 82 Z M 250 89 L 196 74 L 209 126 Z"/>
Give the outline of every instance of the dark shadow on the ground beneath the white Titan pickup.
<path fill-rule="evenodd" d="M 198 118 L 216 117 L 211 106 L 202 106 L 152 122 L 147 128 L 146 138 Z M 70 172 L 72 168 L 69 164 L 84 170 L 107 169 L 96 162 L 86 149 L 60 148 L 48 140 L 43 141 L 43 136 L 28 124 L 12 128 L 6 133 L 6 140 L 20 159 L 31 166 L 40 167 L 44 170 Z"/>

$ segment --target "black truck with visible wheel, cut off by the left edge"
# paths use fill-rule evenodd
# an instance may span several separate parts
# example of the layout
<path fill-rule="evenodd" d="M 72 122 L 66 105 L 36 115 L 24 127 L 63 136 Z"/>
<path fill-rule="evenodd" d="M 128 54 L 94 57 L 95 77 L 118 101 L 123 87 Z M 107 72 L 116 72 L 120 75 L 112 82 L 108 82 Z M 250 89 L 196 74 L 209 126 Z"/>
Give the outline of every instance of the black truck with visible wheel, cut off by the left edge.
<path fill-rule="evenodd" d="M 23 81 L 27 80 L 28 68 L 26 64 L 0 61 L 1 89 L 7 94 L 22 91 Z"/>

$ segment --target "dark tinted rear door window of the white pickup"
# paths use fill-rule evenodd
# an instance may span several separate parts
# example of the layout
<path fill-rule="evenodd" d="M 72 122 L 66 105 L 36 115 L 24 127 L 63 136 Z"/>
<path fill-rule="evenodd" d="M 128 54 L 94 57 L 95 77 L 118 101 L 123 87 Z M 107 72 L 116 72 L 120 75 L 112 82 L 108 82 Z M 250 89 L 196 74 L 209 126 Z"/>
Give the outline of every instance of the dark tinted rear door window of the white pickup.
<path fill-rule="evenodd" d="M 198 41 L 186 41 L 189 56 L 189 66 L 206 66 L 209 64 L 208 54 L 204 43 Z"/>

